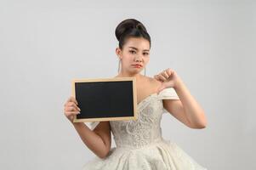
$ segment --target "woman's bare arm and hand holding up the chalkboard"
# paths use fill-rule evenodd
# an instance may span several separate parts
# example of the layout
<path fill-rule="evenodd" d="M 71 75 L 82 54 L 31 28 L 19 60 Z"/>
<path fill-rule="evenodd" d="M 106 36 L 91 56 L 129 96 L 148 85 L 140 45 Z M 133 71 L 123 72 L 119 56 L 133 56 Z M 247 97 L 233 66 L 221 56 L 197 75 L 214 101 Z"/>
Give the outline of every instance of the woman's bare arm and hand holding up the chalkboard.
<path fill-rule="evenodd" d="M 77 130 L 82 142 L 92 150 L 96 156 L 105 158 L 111 149 L 111 127 L 109 122 L 100 122 L 92 131 L 83 122 L 73 122 L 75 115 L 79 114 L 77 100 L 71 97 L 65 103 L 65 116 Z"/>

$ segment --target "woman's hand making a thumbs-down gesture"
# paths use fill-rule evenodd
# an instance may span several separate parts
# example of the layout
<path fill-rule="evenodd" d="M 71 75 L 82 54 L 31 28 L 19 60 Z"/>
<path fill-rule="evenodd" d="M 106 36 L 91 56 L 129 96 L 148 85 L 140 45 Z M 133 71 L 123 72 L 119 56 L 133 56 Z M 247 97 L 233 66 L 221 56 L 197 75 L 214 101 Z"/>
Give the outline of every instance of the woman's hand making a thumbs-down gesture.
<path fill-rule="evenodd" d="M 154 78 L 157 81 L 162 82 L 161 86 L 157 90 L 157 94 L 159 94 L 164 88 L 175 88 L 177 82 L 179 81 L 177 73 L 170 68 L 155 75 Z"/>

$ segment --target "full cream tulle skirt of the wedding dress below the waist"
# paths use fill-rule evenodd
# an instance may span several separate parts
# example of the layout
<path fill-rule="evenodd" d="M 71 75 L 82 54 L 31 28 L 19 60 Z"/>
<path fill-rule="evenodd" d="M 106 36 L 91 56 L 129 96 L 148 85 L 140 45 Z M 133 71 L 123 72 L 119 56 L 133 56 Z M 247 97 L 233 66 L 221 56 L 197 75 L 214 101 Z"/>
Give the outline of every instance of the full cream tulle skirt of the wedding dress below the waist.
<path fill-rule="evenodd" d="M 82 170 L 207 170 L 176 143 L 162 139 L 140 148 L 114 147 L 108 156 L 86 162 Z"/>

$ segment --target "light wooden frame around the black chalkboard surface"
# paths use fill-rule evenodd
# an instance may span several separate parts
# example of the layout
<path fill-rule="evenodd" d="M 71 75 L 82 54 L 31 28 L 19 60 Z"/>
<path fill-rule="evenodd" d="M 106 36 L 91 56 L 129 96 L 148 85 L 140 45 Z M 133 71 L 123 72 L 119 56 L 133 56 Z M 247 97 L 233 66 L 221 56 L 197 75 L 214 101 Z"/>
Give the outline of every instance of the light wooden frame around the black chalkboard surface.
<path fill-rule="evenodd" d="M 71 81 L 72 96 L 76 98 L 76 82 L 120 82 L 120 81 L 132 81 L 132 95 L 133 95 L 133 107 L 134 116 L 109 116 L 109 117 L 95 117 L 95 118 L 77 118 L 74 117 L 73 122 L 104 122 L 104 121 L 128 121 L 136 120 L 138 118 L 137 114 L 137 91 L 136 91 L 136 78 L 135 77 L 114 77 L 114 78 L 99 78 L 99 79 L 73 79 Z M 78 103 L 79 107 L 79 103 Z M 81 111 L 82 113 L 82 111 Z"/>

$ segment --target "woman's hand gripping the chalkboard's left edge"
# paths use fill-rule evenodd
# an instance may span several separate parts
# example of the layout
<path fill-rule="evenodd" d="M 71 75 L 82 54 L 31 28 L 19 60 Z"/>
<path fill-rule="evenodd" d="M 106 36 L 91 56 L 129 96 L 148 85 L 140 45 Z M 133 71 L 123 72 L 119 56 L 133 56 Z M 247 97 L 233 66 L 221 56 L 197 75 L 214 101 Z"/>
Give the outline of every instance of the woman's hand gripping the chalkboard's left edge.
<path fill-rule="evenodd" d="M 64 114 L 71 123 L 73 123 L 74 116 L 80 114 L 81 110 L 77 105 L 77 100 L 72 96 L 65 102 Z"/>

